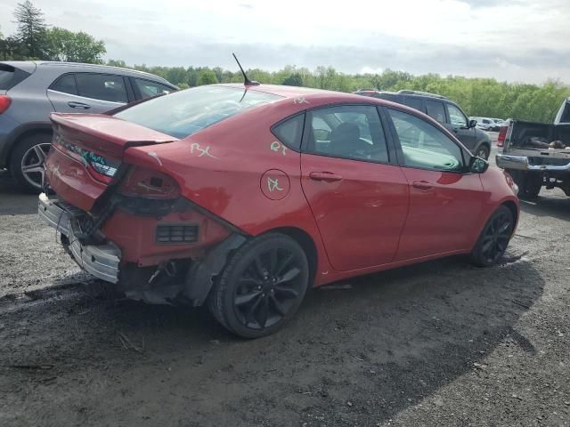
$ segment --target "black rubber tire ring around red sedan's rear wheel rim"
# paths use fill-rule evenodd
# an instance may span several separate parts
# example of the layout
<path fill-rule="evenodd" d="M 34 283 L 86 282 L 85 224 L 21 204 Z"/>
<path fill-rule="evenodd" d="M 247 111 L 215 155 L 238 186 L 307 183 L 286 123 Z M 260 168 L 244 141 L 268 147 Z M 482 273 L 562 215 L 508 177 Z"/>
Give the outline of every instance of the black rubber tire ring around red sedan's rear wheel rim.
<path fill-rule="evenodd" d="M 301 264 L 301 274 L 304 276 L 304 286 L 299 293 L 299 297 L 291 306 L 284 318 L 281 318 L 281 320 L 274 325 L 266 327 L 264 329 L 252 329 L 242 325 L 235 312 L 233 300 L 236 286 L 238 285 L 238 279 L 240 278 L 243 270 L 246 269 L 250 262 L 254 260 L 256 254 L 264 253 L 273 247 L 288 249 L 293 254 L 295 254 L 297 261 Z M 303 302 L 303 299 L 305 298 L 308 281 L 309 264 L 306 259 L 305 251 L 303 251 L 301 246 L 299 246 L 293 238 L 289 238 L 289 236 L 277 233 L 260 236 L 259 238 L 253 238 L 232 256 L 232 259 L 230 262 L 228 262 L 222 278 L 220 279 L 220 287 L 217 290 L 219 294 L 216 296 L 218 298 L 218 303 L 220 304 L 219 309 L 222 311 L 220 314 L 224 316 L 224 322 L 222 322 L 222 324 L 230 329 L 234 334 L 238 334 L 244 338 L 257 338 L 260 336 L 273 334 L 275 331 L 289 322 L 289 319 L 292 318 L 297 312 L 299 306 L 301 305 L 301 302 Z"/>

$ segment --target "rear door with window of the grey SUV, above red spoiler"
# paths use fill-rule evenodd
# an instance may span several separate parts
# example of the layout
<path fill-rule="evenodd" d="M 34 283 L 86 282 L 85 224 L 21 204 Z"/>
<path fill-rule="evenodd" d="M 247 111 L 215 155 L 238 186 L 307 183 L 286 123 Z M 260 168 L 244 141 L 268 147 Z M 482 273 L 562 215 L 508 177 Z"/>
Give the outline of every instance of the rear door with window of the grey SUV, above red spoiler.
<path fill-rule="evenodd" d="M 104 113 L 129 101 L 124 77 L 100 73 L 69 73 L 47 90 L 60 113 Z"/>

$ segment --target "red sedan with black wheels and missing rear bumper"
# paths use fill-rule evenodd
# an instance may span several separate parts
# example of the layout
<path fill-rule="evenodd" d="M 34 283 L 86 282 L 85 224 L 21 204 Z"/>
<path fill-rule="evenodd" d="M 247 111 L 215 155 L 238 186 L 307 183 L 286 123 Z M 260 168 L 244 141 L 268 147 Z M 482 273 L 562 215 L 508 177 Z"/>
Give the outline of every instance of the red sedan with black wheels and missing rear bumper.
<path fill-rule="evenodd" d="M 208 85 L 53 114 L 41 218 L 84 270 L 152 303 L 207 302 L 271 334 L 309 286 L 469 254 L 498 262 L 516 185 L 414 109 L 274 85 Z"/>

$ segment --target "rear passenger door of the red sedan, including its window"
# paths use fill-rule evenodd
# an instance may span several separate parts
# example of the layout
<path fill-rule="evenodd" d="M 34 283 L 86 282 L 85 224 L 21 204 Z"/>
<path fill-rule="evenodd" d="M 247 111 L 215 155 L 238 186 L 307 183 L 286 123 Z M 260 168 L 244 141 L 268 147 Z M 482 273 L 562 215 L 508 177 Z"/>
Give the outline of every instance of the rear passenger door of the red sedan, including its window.
<path fill-rule="evenodd" d="M 335 270 L 394 259 L 408 185 L 388 147 L 374 106 L 307 111 L 301 184 Z"/>

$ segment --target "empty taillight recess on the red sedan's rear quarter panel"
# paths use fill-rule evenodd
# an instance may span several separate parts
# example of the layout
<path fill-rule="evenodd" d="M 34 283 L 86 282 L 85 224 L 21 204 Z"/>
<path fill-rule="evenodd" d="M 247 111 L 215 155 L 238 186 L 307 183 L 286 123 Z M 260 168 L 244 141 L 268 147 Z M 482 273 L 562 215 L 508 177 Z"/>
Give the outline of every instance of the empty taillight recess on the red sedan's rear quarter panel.
<path fill-rule="evenodd" d="M 173 199 L 179 196 L 180 188 L 166 173 L 136 166 L 121 181 L 118 192 L 129 197 Z"/>

